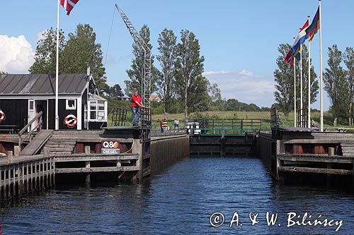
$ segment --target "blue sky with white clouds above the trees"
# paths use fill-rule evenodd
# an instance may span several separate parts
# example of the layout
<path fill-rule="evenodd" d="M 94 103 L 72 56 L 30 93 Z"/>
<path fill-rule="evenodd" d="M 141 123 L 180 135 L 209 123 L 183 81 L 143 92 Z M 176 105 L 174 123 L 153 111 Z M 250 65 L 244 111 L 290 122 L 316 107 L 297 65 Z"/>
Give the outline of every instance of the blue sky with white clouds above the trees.
<path fill-rule="evenodd" d="M 4 0 L 1 0 L 4 1 Z M 205 57 L 205 73 L 217 83 L 222 97 L 270 107 L 278 46 L 292 44 L 293 37 L 316 13 L 317 0 L 80 0 L 67 16 L 60 7 L 60 28 L 67 35 L 76 25 L 88 23 L 102 45 L 108 84 L 124 89 L 125 71 L 130 68 L 132 37 L 125 28 L 115 4 L 127 14 L 139 31 L 147 24 L 151 30 L 153 54 L 159 33 L 167 28 L 180 37 L 181 30 L 195 33 L 200 53 Z M 354 1 L 323 0 L 322 44 L 324 68 L 328 47 L 337 44 L 341 51 L 354 47 Z M 311 18 L 312 19 L 312 18 Z M 112 25 L 112 30 L 111 29 Z M 57 0 L 16 0 L 1 5 L 0 71 L 28 73 L 33 64 L 40 35 L 57 27 Z M 108 44 L 109 42 L 109 44 Z M 311 44 L 313 65 L 319 77 L 319 33 Z M 159 68 L 158 61 L 155 66 Z M 319 100 L 319 96 L 317 97 Z M 324 109 L 330 106 L 324 93 Z M 319 109 L 319 102 L 313 108 Z"/>

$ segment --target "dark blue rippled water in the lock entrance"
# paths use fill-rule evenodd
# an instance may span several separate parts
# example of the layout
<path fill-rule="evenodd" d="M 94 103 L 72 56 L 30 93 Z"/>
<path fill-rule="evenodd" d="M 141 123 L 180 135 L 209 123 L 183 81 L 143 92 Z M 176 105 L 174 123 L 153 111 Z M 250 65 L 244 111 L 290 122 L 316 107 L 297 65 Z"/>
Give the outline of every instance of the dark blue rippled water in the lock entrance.
<path fill-rule="evenodd" d="M 335 233 L 338 226 L 287 227 L 288 212 L 308 212 L 343 219 L 336 234 L 353 234 L 353 199 L 345 191 L 275 183 L 260 159 L 191 158 L 141 183 L 31 196 L 2 207 L 0 221 L 3 234 Z M 267 211 L 278 212 L 274 226 L 266 224 Z M 210 225 L 214 212 L 224 215 L 221 227 Z M 239 226 L 229 228 L 234 212 Z M 258 224 L 251 226 L 249 212 L 259 213 Z"/>

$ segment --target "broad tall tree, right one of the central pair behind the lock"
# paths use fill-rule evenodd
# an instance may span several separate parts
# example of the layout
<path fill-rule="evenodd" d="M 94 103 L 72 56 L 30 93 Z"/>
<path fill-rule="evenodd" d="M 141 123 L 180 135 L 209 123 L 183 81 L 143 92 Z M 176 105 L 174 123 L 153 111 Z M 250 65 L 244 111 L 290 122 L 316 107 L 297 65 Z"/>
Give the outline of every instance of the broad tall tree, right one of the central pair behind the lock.
<path fill-rule="evenodd" d="M 176 80 L 178 96 L 183 101 L 184 116 L 188 118 L 189 112 L 193 112 L 199 105 L 204 105 L 209 81 L 202 76 L 204 71 L 204 56 L 200 56 L 200 44 L 193 32 L 181 31 L 181 43 L 177 45 L 178 59 L 176 60 Z"/>

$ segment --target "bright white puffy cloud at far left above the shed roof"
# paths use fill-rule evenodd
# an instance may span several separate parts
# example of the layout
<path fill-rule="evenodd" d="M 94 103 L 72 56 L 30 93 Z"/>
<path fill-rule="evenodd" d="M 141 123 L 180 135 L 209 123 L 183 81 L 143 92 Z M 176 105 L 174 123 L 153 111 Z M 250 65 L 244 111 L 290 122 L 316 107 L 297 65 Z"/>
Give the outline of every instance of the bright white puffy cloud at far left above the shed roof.
<path fill-rule="evenodd" d="M 7 73 L 28 73 L 33 64 L 35 50 L 25 36 L 8 37 L 0 35 L 0 71 Z"/>

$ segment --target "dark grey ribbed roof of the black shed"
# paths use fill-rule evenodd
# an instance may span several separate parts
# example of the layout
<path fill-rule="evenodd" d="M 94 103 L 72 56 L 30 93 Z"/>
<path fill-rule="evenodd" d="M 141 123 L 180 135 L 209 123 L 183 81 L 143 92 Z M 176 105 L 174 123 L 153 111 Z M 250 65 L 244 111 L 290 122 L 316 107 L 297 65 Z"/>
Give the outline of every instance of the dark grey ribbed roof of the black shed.
<path fill-rule="evenodd" d="M 81 94 L 86 88 L 86 74 L 60 74 L 59 95 Z M 5 74 L 0 76 L 0 95 L 55 95 L 55 75 Z"/>

